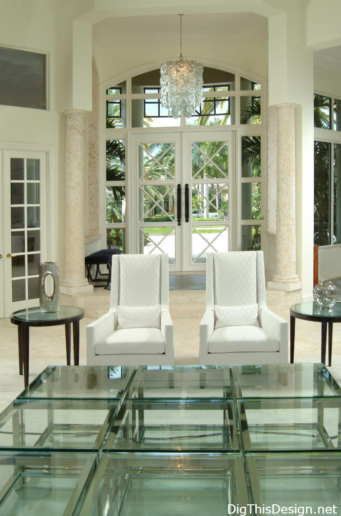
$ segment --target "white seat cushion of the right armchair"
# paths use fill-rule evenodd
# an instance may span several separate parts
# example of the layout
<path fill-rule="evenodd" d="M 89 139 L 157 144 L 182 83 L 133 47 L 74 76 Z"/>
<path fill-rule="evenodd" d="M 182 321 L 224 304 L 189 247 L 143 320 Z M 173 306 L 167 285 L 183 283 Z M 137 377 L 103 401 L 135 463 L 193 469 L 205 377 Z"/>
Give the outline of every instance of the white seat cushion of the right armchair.
<path fill-rule="evenodd" d="M 208 341 L 209 353 L 279 351 L 280 342 L 256 326 L 224 326 L 214 330 Z"/>

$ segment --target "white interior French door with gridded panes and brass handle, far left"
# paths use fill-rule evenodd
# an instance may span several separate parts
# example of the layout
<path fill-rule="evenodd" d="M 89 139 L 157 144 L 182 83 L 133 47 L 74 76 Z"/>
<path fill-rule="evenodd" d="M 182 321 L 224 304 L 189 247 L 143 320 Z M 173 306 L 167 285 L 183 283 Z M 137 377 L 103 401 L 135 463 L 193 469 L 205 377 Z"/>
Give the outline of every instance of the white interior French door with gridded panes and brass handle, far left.
<path fill-rule="evenodd" d="M 39 305 L 40 262 L 46 261 L 46 154 L 4 151 L 5 317 Z"/>

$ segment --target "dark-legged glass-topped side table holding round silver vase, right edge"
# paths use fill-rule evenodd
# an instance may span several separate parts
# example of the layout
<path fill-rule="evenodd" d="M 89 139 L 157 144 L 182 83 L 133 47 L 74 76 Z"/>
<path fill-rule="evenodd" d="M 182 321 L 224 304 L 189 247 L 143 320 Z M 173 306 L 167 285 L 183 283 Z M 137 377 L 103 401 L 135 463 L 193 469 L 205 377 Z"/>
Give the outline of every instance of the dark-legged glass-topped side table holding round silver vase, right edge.
<path fill-rule="evenodd" d="M 341 322 L 341 304 L 331 309 L 319 308 L 315 302 L 297 303 L 290 307 L 290 363 L 294 363 L 295 319 L 321 322 L 321 362 L 326 363 L 328 324 L 328 365 L 332 365 L 333 322 Z"/>

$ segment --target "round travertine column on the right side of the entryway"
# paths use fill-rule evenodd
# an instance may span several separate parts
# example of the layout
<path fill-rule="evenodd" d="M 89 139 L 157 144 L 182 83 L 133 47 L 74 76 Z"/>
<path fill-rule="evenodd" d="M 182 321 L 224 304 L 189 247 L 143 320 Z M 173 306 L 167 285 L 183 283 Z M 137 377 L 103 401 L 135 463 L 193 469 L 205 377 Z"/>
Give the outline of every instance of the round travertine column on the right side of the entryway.
<path fill-rule="evenodd" d="M 277 221 L 276 273 L 268 288 L 293 291 L 302 288 L 296 274 L 295 227 L 295 104 L 277 108 Z"/>

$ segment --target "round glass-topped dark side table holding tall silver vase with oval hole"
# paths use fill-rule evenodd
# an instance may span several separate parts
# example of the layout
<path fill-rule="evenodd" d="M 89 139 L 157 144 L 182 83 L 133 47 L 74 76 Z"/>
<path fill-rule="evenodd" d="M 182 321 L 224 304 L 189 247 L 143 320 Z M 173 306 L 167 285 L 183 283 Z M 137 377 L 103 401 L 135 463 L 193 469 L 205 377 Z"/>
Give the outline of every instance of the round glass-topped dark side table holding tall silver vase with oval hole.
<path fill-rule="evenodd" d="M 59 307 L 58 312 L 42 312 L 39 307 L 26 308 L 13 312 L 10 320 L 18 326 L 19 374 L 23 374 L 25 387 L 28 385 L 29 327 L 65 325 L 67 364 L 71 363 L 71 324 L 73 330 L 73 359 L 79 364 L 79 320 L 84 310 L 78 307 Z"/>

